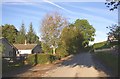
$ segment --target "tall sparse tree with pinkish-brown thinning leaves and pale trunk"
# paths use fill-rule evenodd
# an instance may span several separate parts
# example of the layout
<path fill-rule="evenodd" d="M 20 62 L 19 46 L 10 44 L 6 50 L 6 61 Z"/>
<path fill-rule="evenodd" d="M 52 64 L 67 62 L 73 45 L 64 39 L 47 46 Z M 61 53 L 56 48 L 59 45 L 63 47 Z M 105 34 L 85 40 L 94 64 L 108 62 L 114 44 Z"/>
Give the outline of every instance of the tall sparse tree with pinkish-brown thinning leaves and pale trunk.
<path fill-rule="evenodd" d="M 58 12 L 49 13 L 42 20 L 42 39 L 44 43 L 53 48 L 53 54 L 56 53 L 61 30 L 67 25 L 66 19 Z"/>

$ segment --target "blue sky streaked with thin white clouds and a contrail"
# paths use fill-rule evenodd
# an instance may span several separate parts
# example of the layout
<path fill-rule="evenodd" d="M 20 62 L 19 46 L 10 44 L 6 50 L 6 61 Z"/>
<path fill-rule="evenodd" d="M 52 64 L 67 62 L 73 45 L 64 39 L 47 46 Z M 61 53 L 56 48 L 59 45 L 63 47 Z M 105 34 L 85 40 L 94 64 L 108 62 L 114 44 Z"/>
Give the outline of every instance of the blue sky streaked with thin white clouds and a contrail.
<path fill-rule="evenodd" d="M 87 19 L 96 29 L 94 42 L 100 42 L 107 39 L 109 32 L 107 26 L 117 24 L 118 11 L 109 11 L 105 6 L 105 2 L 83 2 L 72 0 L 53 1 L 43 0 L 4 0 L 2 3 L 2 24 L 13 24 L 19 30 L 22 21 L 26 30 L 30 22 L 33 23 L 36 34 L 40 37 L 40 24 L 46 13 L 52 11 L 60 12 L 70 23 L 76 19 Z"/>

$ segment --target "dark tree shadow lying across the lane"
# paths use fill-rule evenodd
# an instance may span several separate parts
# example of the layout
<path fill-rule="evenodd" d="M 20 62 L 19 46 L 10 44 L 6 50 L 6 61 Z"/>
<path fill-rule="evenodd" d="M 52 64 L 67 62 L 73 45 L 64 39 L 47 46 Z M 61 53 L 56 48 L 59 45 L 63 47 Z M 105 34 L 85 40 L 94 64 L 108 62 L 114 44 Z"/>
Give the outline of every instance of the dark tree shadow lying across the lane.
<path fill-rule="evenodd" d="M 101 64 L 93 55 L 90 53 L 80 53 L 77 55 L 74 55 L 67 60 L 63 61 L 60 63 L 59 66 L 70 66 L 70 67 L 75 67 L 75 66 L 82 66 L 82 67 L 94 67 L 97 71 L 103 71 L 110 77 L 112 75 L 111 71 L 107 69 L 103 64 Z"/>

